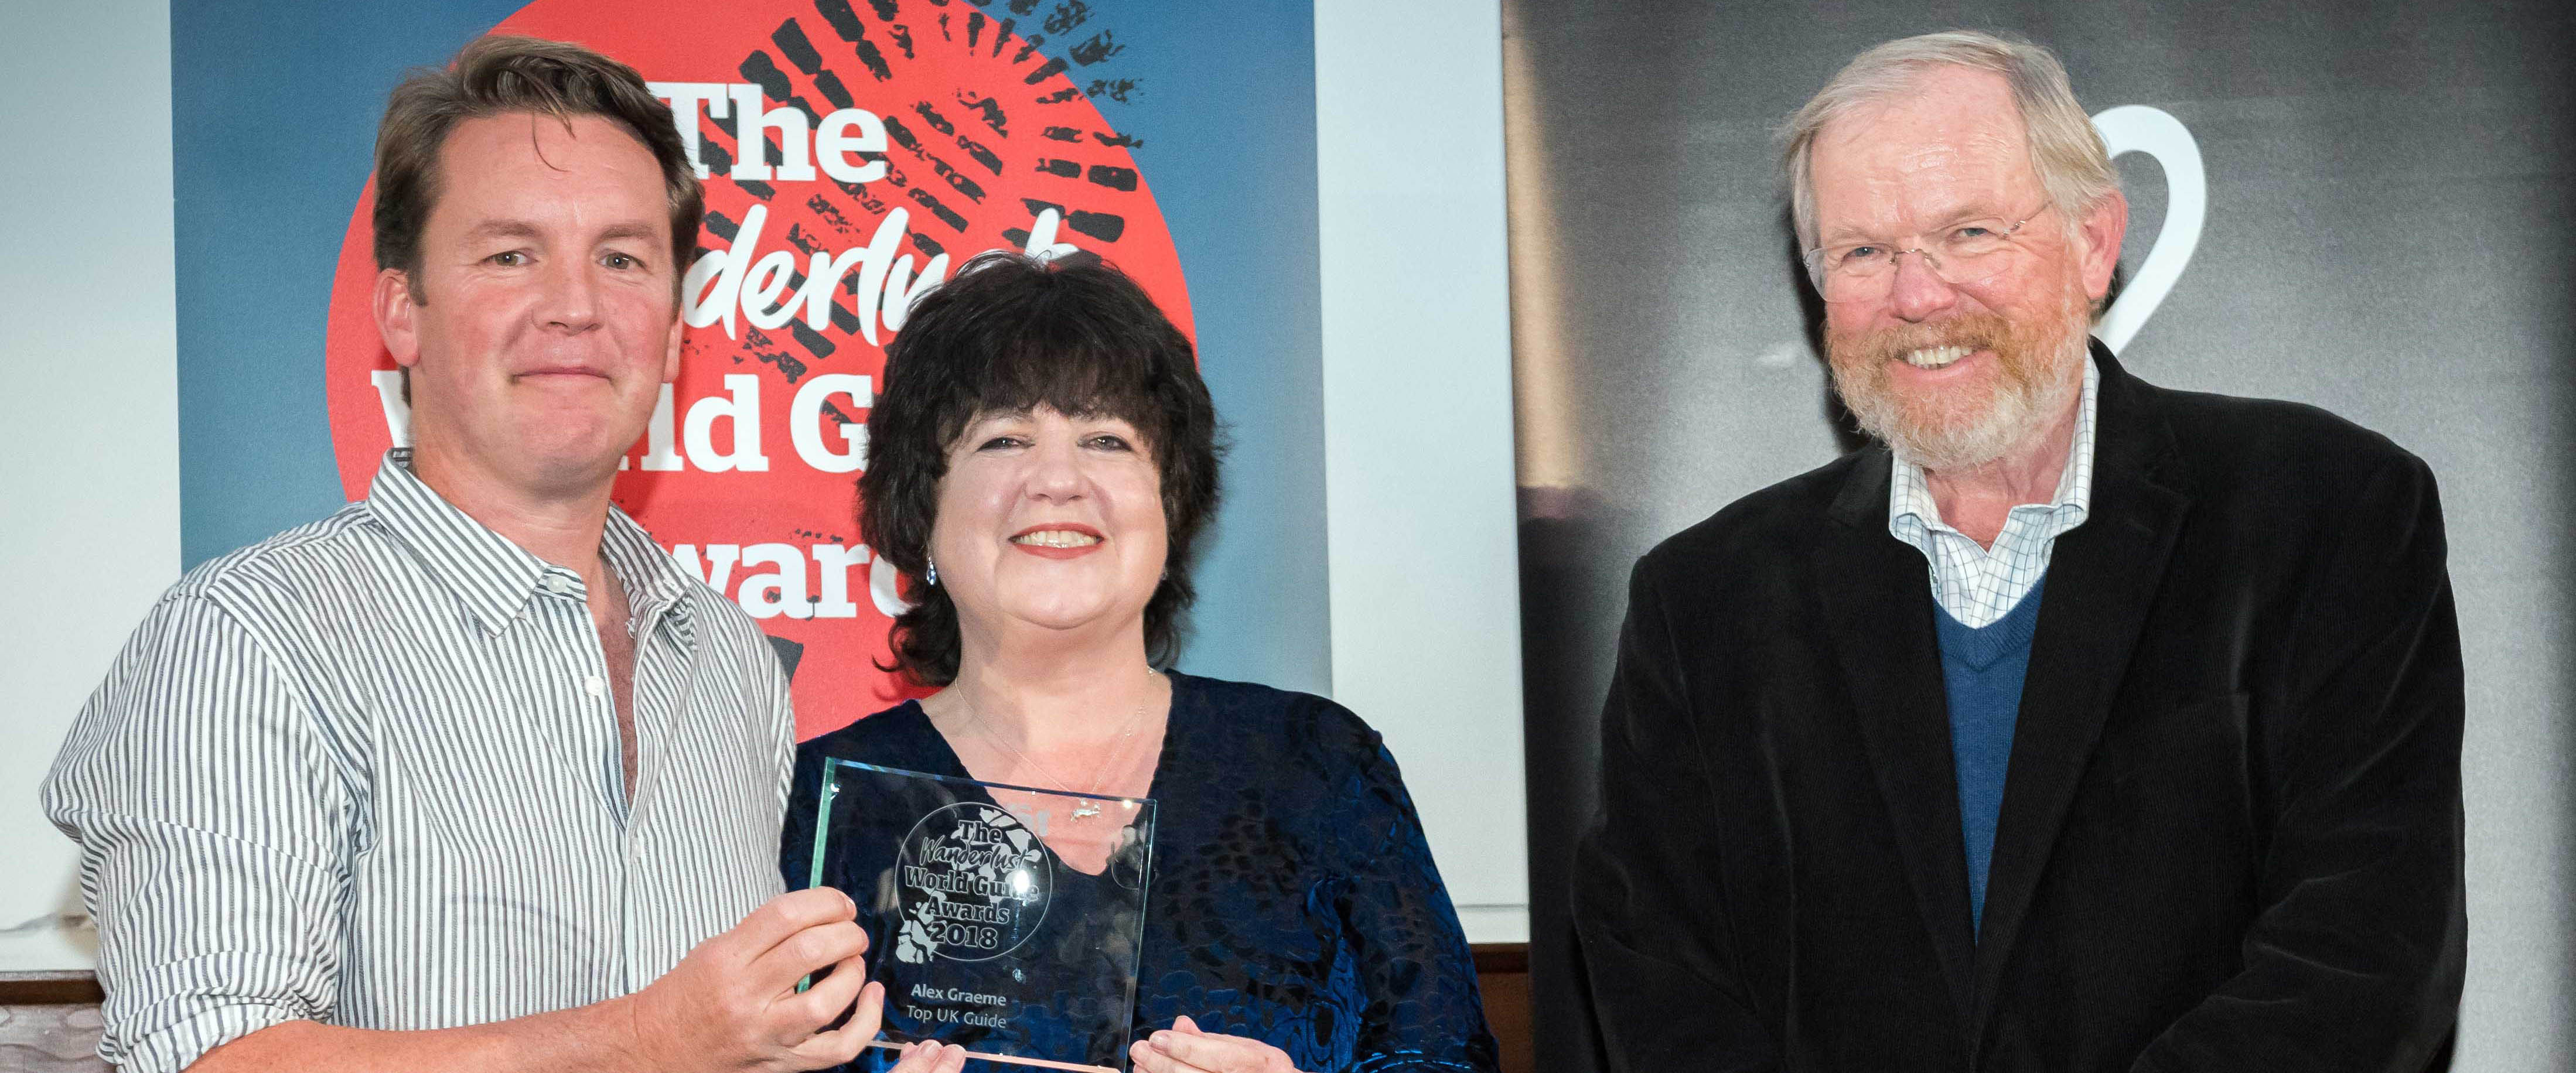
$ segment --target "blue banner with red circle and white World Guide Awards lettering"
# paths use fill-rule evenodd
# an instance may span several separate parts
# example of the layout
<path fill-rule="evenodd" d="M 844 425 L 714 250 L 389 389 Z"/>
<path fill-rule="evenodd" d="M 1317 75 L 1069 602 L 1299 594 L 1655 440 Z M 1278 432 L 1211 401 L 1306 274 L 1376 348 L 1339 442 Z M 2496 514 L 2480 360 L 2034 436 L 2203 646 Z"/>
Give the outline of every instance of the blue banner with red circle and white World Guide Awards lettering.
<path fill-rule="evenodd" d="M 904 692 L 878 672 L 902 597 L 853 486 L 886 342 L 987 250 L 1097 252 L 1198 340 L 1239 461 L 1182 661 L 1327 687 L 1321 548 L 1270 522 L 1321 509 L 1321 473 L 1278 450 L 1319 427 L 1303 5 L 446 8 L 175 10 L 191 564 L 366 497 L 407 440 L 368 311 L 374 124 L 404 69 L 528 33 L 634 64 L 706 185 L 680 378 L 613 494 L 778 643 L 799 736 Z"/>

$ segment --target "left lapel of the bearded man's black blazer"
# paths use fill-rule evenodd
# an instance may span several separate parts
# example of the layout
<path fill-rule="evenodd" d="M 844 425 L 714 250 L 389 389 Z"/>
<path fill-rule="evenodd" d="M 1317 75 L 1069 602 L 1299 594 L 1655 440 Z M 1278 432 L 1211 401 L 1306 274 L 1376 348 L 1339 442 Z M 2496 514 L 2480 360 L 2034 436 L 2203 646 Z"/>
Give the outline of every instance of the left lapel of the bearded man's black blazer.
<path fill-rule="evenodd" d="M 1932 584 L 1924 556 L 1888 535 L 1891 458 L 1886 448 L 1868 450 L 1834 499 L 1834 525 L 1824 527 L 1811 566 L 1860 741 L 1965 1032 L 1976 939 Z"/>

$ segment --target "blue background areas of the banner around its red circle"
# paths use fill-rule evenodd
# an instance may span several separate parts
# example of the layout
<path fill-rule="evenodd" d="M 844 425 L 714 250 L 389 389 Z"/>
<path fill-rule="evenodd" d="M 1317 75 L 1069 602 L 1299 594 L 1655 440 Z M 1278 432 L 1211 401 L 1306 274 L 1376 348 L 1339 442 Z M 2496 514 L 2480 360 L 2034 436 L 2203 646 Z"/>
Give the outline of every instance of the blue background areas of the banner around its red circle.
<path fill-rule="evenodd" d="M 518 8 L 173 5 L 183 566 L 340 507 L 325 314 L 384 98 Z M 1234 440 L 1182 666 L 1327 692 L 1314 8 L 1092 10 L 1139 82 L 1097 108 L 1144 139 Z"/>

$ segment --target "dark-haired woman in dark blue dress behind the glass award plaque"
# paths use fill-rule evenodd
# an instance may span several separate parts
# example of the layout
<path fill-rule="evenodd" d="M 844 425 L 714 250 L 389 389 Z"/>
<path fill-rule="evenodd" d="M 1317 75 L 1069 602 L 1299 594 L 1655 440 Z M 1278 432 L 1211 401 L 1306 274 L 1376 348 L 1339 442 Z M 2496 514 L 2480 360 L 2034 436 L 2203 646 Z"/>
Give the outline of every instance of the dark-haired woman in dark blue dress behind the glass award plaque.
<path fill-rule="evenodd" d="M 930 291 L 886 347 L 858 486 L 860 530 L 912 600 L 896 669 L 938 692 L 799 749 L 791 888 L 817 875 L 829 759 L 1151 798 L 1131 1068 L 1497 1068 L 1466 937 L 1378 733 L 1324 697 L 1154 669 L 1216 507 L 1216 412 L 1188 337 L 1136 283 L 1082 255 L 989 255 Z M 971 793 L 1041 834 L 1056 906 L 1115 895 L 1113 865 L 1136 849 L 1115 800 Z M 884 841 L 835 849 L 824 883 L 891 870 Z M 925 1045 L 896 1068 L 961 1058 Z"/>

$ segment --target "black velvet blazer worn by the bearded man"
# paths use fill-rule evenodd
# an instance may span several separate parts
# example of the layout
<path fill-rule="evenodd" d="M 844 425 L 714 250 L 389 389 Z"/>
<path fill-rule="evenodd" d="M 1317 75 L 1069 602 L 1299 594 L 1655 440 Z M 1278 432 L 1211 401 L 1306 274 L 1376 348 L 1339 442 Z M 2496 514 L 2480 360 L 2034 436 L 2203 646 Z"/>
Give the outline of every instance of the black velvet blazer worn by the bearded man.
<path fill-rule="evenodd" d="M 1636 564 L 1574 916 L 1618 1070 L 2421 1070 L 2452 1032 L 2460 633 L 2432 471 L 2102 368 L 1986 931 L 1886 448 Z"/>

